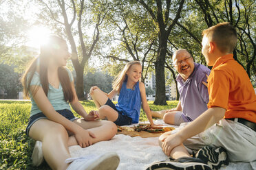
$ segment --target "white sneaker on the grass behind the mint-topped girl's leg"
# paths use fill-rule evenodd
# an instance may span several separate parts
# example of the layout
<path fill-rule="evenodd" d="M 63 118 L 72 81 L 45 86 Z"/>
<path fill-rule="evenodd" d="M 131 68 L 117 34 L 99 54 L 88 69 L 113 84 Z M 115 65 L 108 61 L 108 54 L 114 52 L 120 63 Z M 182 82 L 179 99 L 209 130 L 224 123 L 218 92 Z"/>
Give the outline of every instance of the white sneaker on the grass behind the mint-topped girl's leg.
<path fill-rule="evenodd" d="M 41 141 L 36 141 L 31 158 L 32 158 L 33 165 L 36 167 L 38 167 L 39 165 L 41 165 L 41 163 L 43 163 L 43 149 L 42 149 Z"/>

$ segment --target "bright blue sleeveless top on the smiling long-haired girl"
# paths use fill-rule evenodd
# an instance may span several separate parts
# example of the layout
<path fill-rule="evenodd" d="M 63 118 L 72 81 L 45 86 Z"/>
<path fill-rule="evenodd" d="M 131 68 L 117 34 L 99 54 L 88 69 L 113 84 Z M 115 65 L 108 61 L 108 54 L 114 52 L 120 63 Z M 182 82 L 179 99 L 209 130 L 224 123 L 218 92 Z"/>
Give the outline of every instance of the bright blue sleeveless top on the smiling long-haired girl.
<path fill-rule="evenodd" d="M 138 123 L 141 108 L 140 82 L 137 82 L 134 90 L 126 87 L 127 82 L 122 83 L 116 109 L 123 115 L 130 117 L 132 123 Z"/>

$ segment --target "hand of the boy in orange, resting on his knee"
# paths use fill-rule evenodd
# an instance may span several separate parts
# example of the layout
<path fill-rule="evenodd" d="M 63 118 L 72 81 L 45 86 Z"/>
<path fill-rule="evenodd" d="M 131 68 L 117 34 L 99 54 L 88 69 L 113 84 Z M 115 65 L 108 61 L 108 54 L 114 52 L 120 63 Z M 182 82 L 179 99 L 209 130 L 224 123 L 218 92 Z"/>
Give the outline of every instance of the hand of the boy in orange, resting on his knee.
<path fill-rule="evenodd" d="M 181 144 L 181 138 L 176 134 L 171 134 L 167 138 L 164 138 L 162 140 L 162 151 L 164 151 L 164 154 L 166 154 L 167 156 L 170 156 L 173 148 Z"/>

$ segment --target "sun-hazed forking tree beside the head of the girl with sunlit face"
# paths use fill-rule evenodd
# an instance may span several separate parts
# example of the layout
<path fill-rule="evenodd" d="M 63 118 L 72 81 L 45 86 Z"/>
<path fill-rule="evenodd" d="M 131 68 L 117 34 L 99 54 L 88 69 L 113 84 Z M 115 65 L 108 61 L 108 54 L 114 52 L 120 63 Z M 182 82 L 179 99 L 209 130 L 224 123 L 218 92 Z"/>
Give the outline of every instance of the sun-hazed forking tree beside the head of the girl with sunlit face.
<path fill-rule="evenodd" d="M 72 64 L 76 71 L 76 93 L 79 99 L 83 94 L 83 73 L 85 64 L 92 56 L 96 43 L 100 38 L 99 27 L 103 23 L 106 14 L 112 9 L 109 1 L 39 1 L 43 4 L 40 14 L 43 21 L 54 21 L 55 27 L 63 28 L 63 34 L 67 36 L 72 50 Z M 76 20 L 77 19 L 77 20 Z M 74 23 L 77 23 L 76 27 Z M 58 25 L 58 26 L 57 26 Z M 92 26 L 94 25 L 94 26 Z M 75 28 L 74 28 L 75 27 Z M 86 29 L 93 28 L 92 35 Z M 79 45 L 76 45 L 75 37 L 78 36 Z"/>

